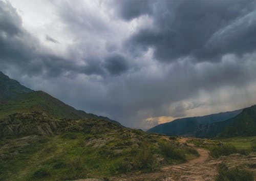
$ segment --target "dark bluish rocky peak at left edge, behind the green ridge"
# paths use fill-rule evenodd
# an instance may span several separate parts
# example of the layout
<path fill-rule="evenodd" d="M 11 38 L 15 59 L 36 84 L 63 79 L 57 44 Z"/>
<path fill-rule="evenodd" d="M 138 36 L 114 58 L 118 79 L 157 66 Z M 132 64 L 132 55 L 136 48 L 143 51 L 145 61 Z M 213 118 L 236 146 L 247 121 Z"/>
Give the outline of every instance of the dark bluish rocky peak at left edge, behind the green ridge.
<path fill-rule="evenodd" d="M 0 102 L 14 98 L 22 93 L 31 93 L 33 90 L 21 85 L 18 81 L 10 79 L 0 71 Z"/>

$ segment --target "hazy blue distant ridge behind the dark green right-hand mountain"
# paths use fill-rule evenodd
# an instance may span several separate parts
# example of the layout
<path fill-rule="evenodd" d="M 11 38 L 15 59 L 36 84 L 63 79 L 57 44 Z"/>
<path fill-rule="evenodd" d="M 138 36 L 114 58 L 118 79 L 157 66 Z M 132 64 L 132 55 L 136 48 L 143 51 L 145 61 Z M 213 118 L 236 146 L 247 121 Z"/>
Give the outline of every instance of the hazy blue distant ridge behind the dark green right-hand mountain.
<path fill-rule="evenodd" d="M 190 135 L 195 136 L 197 128 L 201 125 L 206 125 L 215 122 L 225 121 L 240 114 L 242 110 L 234 110 L 228 112 L 221 112 L 219 114 L 212 114 L 201 117 L 191 117 L 177 119 L 172 122 L 159 124 L 149 130 L 148 132 L 161 133 L 166 135 Z"/>

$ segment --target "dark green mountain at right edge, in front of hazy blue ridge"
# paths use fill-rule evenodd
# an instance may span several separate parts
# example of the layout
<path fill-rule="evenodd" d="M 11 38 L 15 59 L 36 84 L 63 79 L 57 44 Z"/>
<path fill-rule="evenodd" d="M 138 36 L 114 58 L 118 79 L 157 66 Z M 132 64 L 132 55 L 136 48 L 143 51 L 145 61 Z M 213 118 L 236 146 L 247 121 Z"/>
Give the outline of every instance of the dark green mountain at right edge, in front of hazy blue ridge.
<path fill-rule="evenodd" d="M 254 135 L 256 135 L 256 105 L 243 109 L 234 118 L 202 125 L 196 131 L 196 136 L 199 138 L 250 137 Z"/>

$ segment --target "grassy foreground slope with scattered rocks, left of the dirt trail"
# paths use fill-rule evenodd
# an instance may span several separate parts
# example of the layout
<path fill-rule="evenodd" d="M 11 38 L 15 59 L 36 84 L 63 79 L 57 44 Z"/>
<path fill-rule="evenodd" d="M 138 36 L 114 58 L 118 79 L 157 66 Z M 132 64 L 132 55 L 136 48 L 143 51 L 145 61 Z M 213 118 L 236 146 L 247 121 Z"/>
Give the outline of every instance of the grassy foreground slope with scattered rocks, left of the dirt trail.
<path fill-rule="evenodd" d="M 162 135 L 123 128 L 105 120 L 76 120 L 62 126 L 65 129 L 47 137 L 0 139 L 0 180 L 102 178 L 156 169 L 156 155 L 175 164 L 195 154 Z M 172 145 L 175 156 L 165 157 L 160 150 L 163 144 Z"/>

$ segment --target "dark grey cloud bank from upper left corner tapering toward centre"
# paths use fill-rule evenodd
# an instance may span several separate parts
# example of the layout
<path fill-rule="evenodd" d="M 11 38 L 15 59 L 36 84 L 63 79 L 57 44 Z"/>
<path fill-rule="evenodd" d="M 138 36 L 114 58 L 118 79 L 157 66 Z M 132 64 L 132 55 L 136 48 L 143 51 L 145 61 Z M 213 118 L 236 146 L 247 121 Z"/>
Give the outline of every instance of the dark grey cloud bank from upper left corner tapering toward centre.
<path fill-rule="evenodd" d="M 84 60 L 86 65 L 44 52 L 37 38 L 22 27 L 22 19 L 10 3 L 0 1 L 0 64 L 18 66 L 27 75 L 57 77 L 64 73 L 104 75 L 103 67 L 92 60 Z M 57 40 L 46 36 L 48 41 Z"/>

